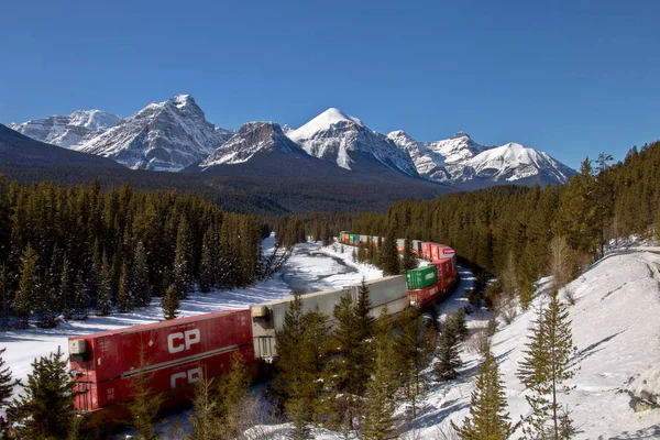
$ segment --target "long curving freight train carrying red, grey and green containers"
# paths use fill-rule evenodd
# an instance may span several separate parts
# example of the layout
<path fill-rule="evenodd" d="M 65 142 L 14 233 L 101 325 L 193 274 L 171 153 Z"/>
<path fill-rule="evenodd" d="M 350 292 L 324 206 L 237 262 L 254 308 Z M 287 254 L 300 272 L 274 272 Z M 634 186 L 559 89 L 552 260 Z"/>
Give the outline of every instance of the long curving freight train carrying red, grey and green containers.
<path fill-rule="evenodd" d="M 341 234 L 339 241 L 343 243 Z M 453 250 L 437 243 L 419 244 L 420 255 L 424 255 L 425 244 L 429 244 L 429 256 L 442 256 L 405 276 L 366 282 L 372 302 L 370 312 L 374 318 L 385 307 L 391 315 L 399 314 L 409 305 L 426 307 L 443 299 L 455 286 Z M 436 254 L 431 251 L 433 246 L 438 249 Z M 440 250 L 442 253 L 438 253 Z M 334 305 L 346 292 L 351 293 L 353 302 L 358 300 L 359 288 L 353 285 L 305 295 L 302 309 L 318 307 L 331 318 Z M 260 363 L 277 355 L 275 336 L 284 326 L 292 299 L 69 338 L 69 364 L 76 388 L 82 392 L 75 399 L 76 409 L 87 414 L 92 425 L 106 419 L 127 420 L 125 404 L 135 395 L 141 360 L 147 387 L 163 393 L 162 409 L 189 400 L 193 385 L 201 377 L 226 373 L 235 352 L 241 353 L 256 375 Z"/>

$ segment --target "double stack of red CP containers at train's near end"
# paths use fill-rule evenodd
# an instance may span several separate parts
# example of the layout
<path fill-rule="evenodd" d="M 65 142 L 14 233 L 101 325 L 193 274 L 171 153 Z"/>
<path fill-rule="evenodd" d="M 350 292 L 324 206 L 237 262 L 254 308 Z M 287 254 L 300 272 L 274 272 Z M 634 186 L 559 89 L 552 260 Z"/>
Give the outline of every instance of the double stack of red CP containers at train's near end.
<path fill-rule="evenodd" d="M 86 411 L 133 399 L 141 350 L 148 387 L 167 393 L 165 406 L 185 402 L 188 385 L 202 375 L 227 372 L 237 351 L 254 362 L 248 309 L 103 331 L 68 343 L 77 389 L 86 392 L 75 406 Z"/>

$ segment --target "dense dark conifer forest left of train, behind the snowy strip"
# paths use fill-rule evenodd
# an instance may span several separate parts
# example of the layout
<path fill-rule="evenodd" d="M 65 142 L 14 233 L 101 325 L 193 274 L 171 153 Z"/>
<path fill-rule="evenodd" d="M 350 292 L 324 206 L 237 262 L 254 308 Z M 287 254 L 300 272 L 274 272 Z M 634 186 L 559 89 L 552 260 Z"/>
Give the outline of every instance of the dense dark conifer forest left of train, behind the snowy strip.
<path fill-rule="evenodd" d="M 262 221 L 191 195 L 124 185 L 21 186 L 0 176 L 3 317 L 42 327 L 150 304 L 173 286 L 248 286 L 261 275 Z M 7 322 L 4 322 L 7 323 Z"/>

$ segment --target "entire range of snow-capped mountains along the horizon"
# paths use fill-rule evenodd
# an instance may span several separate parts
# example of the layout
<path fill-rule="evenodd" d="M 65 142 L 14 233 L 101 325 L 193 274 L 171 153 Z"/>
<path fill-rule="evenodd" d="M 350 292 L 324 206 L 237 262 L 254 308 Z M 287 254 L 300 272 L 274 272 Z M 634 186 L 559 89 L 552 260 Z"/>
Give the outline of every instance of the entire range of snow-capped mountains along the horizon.
<path fill-rule="evenodd" d="M 553 185 L 575 173 L 547 153 L 517 143 L 486 146 L 462 132 L 435 142 L 416 141 L 404 131 L 385 135 L 334 108 L 298 129 L 283 129 L 275 122 L 249 122 L 238 131 L 220 129 L 206 120 L 188 95 L 150 103 L 125 119 L 79 110 L 10 128 L 36 141 L 112 158 L 132 169 L 213 175 L 241 170 L 265 173 L 264 177 L 297 169 L 298 176 L 337 176 L 351 182 L 414 179 L 464 189 Z M 264 155 L 271 155 L 271 163 Z"/>

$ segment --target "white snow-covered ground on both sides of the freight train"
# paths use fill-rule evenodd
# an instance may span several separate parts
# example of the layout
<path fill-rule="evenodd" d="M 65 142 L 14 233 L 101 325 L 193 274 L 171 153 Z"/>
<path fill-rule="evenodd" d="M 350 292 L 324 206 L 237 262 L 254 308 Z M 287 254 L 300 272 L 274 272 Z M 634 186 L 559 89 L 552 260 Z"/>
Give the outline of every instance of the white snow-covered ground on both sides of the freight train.
<path fill-rule="evenodd" d="M 343 252 L 342 252 L 343 251 Z M 660 438 L 660 410 L 635 413 L 628 391 L 641 389 L 660 394 L 660 255 L 645 249 L 613 252 L 594 264 L 570 288 L 576 302 L 570 306 L 573 343 L 578 348 L 575 376 L 570 384 L 575 389 L 561 396 L 569 404 L 579 439 L 652 439 Z M 373 266 L 355 264 L 352 248 L 331 245 L 321 248 L 306 243 L 296 248 L 280 274 L 264 283 L 246 288 L 211 294 L 194 293 L 182 304 L 182 315 L 245 307 L 250 304 L 280 298 L 293 288 L 310 285 L 321 290 L 359 283 L 362 277 L 377 278 L 381 272 Z M 441 306 L 457 309 L 466 304 L 464 289 L 472 286 L 474 277 L 460 268 L 461 285 Z M 541 280 L 542 290 L 548 280 Z M 508 410 L 514 421 L 528 413 L 522 396 L 522 385 L 516 377 L 518 362 L 522 359 L 528 330 L 536 317 L 536 306 L 544 301 L 539 294 L 528 311 L 520 312 L 508 326 L 501 322 L 493 338 L 493 352 L 504 376 Z M 57 329 L 12 331 L 0 334 L 0 346 L 7 346 L 4 359 L 14 376 L 24 377 L 35 356 L 46 355 L 62 345 L 66 350 L 69 336 L 125 326 L 153 322 L 162 317 L 160 304 L 133 314 L 108 318 L 90 317 L 72 321 Z M 490 314 L 484 310 L 468 316 L 469 327 L 485 327 Z M 449 422 L 460 425 L 469 414 L 470 395 L 474 389 L 480 356 L 464 344 L 464 366 L 459 380 L 431 385 L 421 415 L 407 424 L 404 438 L 436 439 L 447 432 Z M 429 373 L 430 374 L 430 373 Z M 399 409 L 399 415 L 403 409 Z M 286 425 L 267 429 L 285 438 Z M 339 440 L 339 433 L 316 430 L 316 438 Z"/>

